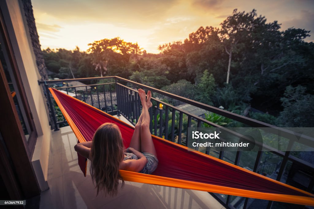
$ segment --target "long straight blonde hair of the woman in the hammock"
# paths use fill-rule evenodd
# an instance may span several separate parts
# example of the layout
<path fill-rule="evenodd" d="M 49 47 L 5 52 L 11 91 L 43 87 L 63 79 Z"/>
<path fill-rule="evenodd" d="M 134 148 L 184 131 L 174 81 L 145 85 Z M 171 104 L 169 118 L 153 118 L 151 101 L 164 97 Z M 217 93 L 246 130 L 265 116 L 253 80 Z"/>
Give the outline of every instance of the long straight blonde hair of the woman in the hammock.
<path fill-rule="evenodd" d="M 115 196 L 118 193 L 119 180 L 124 181 L 119 173 L 123 155 L 123 139 L 119 127 L 113 123 L 102 124 L 95 132 L 90 149 L 90 175 L 97 188 L 106 194 Z"/>

